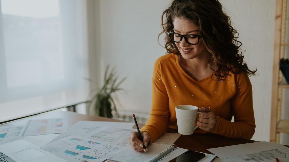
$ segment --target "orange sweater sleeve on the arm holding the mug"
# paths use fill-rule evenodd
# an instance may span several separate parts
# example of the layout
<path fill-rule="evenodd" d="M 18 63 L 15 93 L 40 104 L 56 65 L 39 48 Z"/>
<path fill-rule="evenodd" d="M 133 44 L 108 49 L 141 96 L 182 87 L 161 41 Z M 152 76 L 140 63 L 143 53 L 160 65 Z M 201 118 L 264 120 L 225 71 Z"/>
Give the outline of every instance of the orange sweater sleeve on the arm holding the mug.
<path fill-rule="evenodd" d="M 235 122 L 216 116 L 216 125 L 213 133 L 228 138 L 251 139 L 255 132 L 255 119 L 253 111 L 252 85 L 250 81 L 247 88 L 237 91 L 231 98 L 231 107 Z"/>

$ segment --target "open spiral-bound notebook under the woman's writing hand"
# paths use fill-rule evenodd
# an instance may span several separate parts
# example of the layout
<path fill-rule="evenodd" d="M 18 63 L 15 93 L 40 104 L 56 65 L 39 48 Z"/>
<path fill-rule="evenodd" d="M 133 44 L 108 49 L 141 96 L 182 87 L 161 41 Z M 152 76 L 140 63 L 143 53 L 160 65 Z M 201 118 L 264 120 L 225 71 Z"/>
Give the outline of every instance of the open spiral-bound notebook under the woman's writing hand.
<path fill-rule="evenodd" d="M 188 151 L 187 149 L 178 148 L 176 145 L 164 145 L 152 143 L 148 147 L 148 152 L 136 152 L 130 146 L 123 151 L 110 157 L 113 161 L 127 161 L 127 162 L 156 162 L 156 161 L 167 161 L 169 159 L 176 158 L 182 153 Z"/>

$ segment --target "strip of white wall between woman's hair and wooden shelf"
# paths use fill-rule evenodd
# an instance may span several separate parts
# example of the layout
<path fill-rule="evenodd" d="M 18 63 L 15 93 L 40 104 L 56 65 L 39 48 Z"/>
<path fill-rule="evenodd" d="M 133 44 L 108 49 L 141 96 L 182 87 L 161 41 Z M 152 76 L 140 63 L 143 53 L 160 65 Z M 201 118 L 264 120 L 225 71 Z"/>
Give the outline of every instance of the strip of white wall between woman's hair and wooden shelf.
<path fill-rule="evenodd" d="M 240 41 L 245 61 L 257 67 L 250 78 L 253 85 L 253 105 L 256 121 L 253 140 L 269 141 L 272 89 L 272 63 L 274 41 L 275 1 L 273 0 L 222 0 Z"/>

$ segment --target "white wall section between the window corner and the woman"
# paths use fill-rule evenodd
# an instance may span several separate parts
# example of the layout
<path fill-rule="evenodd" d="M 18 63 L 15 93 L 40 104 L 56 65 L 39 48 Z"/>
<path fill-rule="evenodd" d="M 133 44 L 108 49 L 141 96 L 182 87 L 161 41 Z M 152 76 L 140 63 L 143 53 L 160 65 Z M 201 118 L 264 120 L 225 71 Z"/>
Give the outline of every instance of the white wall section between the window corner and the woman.
<path fill-rule="evenodd" d="M 157 35 L 161 31 L 161 13 L 168 3 L 101 0 L 102 72 L 110 64 L 121 77 L 127 77 L 122 84 L 126 93 L 118 95 L 126 113 L 150 112 L 154 61 L 165 53 L 157 43 Z"/>

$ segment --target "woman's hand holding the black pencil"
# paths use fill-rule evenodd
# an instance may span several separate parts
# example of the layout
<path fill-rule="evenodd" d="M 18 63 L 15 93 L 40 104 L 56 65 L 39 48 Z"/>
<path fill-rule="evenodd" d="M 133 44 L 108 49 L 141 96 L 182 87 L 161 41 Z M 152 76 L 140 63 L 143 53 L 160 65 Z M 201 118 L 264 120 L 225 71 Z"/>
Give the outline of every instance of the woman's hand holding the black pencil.
<path fill-rule="evenodd" d="M 144 152 L 143 144 L 146 147 L 145 151 L 148 151 L 148 143 L 151 140 L 151 136 L 147 132 L 141 132 L 141 136 L 144 139 L 144 143 L 142 143 L 141 140 L 138 139 L 138 132 L 131 132 L 129 135 L 129 144 L 132 146 L 132 149 L 134 149 L 137 152 Z"/>

